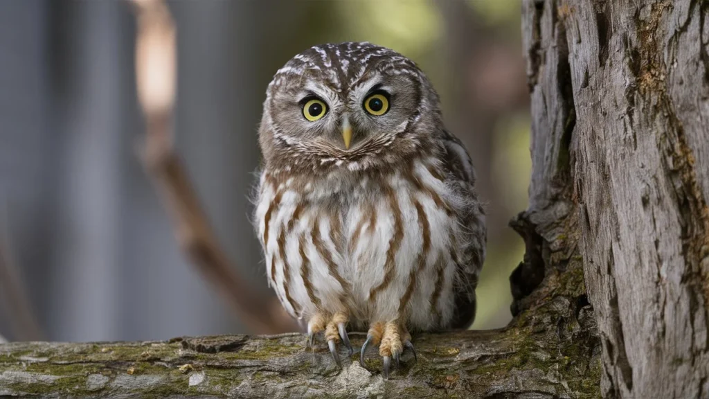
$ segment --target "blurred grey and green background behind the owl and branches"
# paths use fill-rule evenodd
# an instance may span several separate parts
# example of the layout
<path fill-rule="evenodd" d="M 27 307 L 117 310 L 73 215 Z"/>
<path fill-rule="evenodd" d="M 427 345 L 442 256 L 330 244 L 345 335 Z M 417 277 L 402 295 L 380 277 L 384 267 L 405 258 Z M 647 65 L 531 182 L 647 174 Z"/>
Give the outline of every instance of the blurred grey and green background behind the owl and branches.
<path fill-rule="evenodd" d="M 177 151 L 243 278 L 268 293 L 247 200 L 268 82 L 311 45 L 368 40 L 418 62 L 466 143 L 489 226 L 473 328 L 509 322 L 508 276 L 524 250 L 507 223 L 526 207 L 530 175 L 518 0 L 168 4 Z M 184 258 L 140 163 L 134 45 L 123 1 L 0 0 L 0 238 L 11 272 L 0 273 L 0 335 L 9 340 L 249 332 Z"/>

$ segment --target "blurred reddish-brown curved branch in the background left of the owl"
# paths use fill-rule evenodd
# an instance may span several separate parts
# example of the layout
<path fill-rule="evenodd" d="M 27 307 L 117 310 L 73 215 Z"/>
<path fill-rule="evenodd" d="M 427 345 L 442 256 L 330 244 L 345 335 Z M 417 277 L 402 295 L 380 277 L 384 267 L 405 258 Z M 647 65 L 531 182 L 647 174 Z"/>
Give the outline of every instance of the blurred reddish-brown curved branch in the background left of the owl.
<path fill-rule="evenodd" d="M 180 247 L 251 332 L 298 330 L 274 297 L 257 295 L 235 272 L 208 225 L 172 145 L 176 70 L 172 16 L 164 1 L 133 0 L 133 4 L 138 18 L 135 75 L 147 131 L 143 162 L 172 217 Z"/>

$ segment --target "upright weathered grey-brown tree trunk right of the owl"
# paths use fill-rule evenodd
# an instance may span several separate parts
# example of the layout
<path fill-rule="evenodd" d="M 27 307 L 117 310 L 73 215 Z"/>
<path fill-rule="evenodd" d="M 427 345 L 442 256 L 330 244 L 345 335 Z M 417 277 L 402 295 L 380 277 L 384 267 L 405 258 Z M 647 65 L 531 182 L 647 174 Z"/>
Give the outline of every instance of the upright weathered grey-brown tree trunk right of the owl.
<path fill-rule="evenodd" d="M 535 174 L 564 166 L 532 185 L 530 208 L 573 188 L 602 393 L 705 398 L 709 1 L 527 0 L 523 13 Z"/>

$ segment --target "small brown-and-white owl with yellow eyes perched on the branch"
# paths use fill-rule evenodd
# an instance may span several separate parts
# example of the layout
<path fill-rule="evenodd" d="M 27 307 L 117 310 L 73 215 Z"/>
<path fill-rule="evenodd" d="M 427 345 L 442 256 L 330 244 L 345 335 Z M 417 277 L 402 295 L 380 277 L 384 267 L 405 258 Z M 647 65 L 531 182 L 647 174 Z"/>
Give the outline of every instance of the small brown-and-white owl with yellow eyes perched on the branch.
<path fill-rule="evenodd" d="M 285 309 L 383 374 L 410 332 L 467 328 L 485 258 L 475 170 L 415 63 L 371 43 L 316 45 L 267 88 L 255 226 Z M 366 368 L 366 367 L 365 367 Z"/>

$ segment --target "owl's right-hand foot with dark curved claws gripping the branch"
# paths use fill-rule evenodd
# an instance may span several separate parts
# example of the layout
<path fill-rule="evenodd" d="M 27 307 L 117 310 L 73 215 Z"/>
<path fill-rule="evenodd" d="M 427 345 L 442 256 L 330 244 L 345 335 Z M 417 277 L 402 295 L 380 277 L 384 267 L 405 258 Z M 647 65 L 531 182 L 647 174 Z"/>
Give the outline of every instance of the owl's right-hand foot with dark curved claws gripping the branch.
<path fill-rule="evenodd" d="M 413 344 L 411 344 L 411 334 L 408 333 L 406 327 L 395 322 L 376 322 L 369 327 L 367 341 L 364 341 L 362 352 L 359 354 L 359 364 L 367 370 L 369 370 L 369 368 L 364 364 L 364 352 L 367 351 L 369 344 L 375 346 L 379 344 L 379 356 L 382 357 L 384 363 L 384 367 L 382 368 L 384 379 L 389 379 L 391 359 L 393 359 L 396 366 L 399 366 L 401 354 L 404 349 L 411 349 L 411 351 L 413 351 L 414 360 L 418 360 L 416 351 L 413 349 Z"/>

